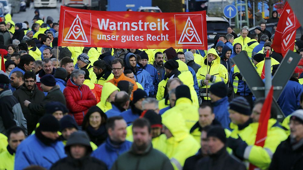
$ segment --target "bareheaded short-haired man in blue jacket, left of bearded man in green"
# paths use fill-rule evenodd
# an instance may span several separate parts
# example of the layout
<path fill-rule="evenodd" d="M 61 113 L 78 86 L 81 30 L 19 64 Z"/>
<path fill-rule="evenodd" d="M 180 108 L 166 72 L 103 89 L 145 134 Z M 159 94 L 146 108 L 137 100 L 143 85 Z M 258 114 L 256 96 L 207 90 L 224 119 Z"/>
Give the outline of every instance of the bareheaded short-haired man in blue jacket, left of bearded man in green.
<path fill-rule="evenodd" d="M 108 169 L 112 168 L 118 156 L 128 151 L 132 146 L 131 142 L 125 140 L 126 127 L 127 124 L 123 117 L 115 116 L 108 118 L 106 129 L 109 137 L 105 143 L 92 153 L 92 157 L 105 162 Z"/>

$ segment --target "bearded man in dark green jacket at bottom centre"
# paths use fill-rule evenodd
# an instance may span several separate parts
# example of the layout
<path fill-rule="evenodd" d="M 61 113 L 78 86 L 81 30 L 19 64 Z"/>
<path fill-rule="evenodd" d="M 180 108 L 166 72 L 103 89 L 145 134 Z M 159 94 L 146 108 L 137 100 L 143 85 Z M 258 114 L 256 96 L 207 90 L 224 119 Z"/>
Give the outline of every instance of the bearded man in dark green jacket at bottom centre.
<path fill-rule="evenodd" d="M 139 118 L 132 127 L 134 143 L 128 152 L 123 153 L 112 166 L 118 169 L 174 169 L 169 159 L 151 145 L 151 127 L 148 120 Z"/>

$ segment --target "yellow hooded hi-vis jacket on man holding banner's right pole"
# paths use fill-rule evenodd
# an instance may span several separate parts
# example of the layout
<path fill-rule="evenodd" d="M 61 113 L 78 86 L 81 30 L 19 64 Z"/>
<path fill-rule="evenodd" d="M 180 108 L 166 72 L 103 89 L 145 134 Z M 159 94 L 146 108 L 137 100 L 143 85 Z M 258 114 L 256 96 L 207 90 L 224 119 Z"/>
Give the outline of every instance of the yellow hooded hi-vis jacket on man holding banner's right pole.
<path fill-rule="evenodd" d="M 210 100 L 210 98 L 207 97 L 209 96 L 209 90 L 207 94 L 206 85 L 203 83 L 206 74 L 211 75 L 211 79 L 208 81 L 207 88 L 210 88 L 212 84 L 217 82 L 224 82 L 226 84 L 229 78 L 227 69 L 224 65 L 220 64 L 220 57 L 218 56 L 216 50 L 211 48 L 210 50 L 208 50 L 208 54 L 214 54 L 215 56 L 217 56 L 217 58 L 211 61 L 210 66 L 207 66 L 205 63 L 203 63 L 196 74 L 198 85 L 200 88 L 200 96 L 204 97 L 204 100 Z M 204 57 L 204 61 L 206 60 L 207 56 Z"/>

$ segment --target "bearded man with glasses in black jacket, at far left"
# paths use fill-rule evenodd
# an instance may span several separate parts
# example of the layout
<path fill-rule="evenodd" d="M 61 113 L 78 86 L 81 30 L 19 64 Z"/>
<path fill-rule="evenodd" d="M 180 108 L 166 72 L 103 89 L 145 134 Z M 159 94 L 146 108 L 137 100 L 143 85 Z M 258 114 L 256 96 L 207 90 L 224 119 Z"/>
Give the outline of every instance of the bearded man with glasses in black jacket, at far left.
<path fill-rule="evenodd" d="M 13 96 L 19 101 L 22 113 L 27 121 L 28 134 L 31 134 L 35 129 L 41 115 L 25 107 L 24 101 L 28 100 L 33 104 L 39 104 L 45 97 L 44 93 L 38 89 L 36 82 L 35 72 L 27 71 L 24 74 L 24 84 L 13 93 Z"/>

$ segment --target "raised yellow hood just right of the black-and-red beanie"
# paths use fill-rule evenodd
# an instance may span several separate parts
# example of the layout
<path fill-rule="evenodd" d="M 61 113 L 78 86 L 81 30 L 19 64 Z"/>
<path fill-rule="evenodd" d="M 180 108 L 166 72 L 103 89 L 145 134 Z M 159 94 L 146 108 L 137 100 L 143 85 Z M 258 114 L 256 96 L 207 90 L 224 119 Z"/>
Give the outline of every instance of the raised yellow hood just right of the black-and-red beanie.
<path fill-rule="evenodd" d="M 184 118 L 180 113 L 163 114 L 162 123 L 170 130 L 177 142 L 183 140 L 189 134 Z"/>

